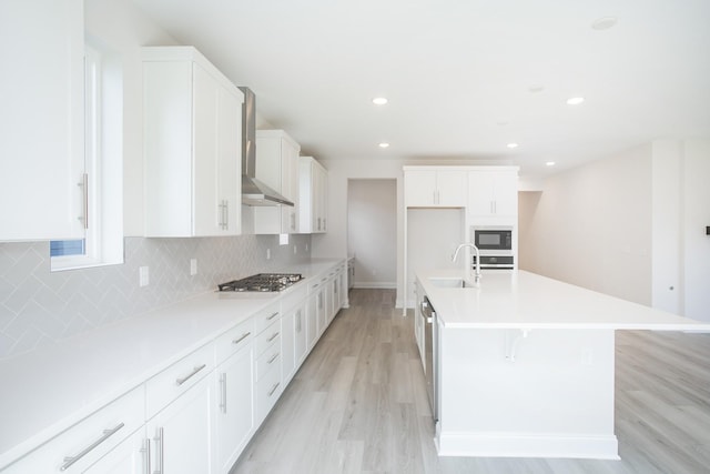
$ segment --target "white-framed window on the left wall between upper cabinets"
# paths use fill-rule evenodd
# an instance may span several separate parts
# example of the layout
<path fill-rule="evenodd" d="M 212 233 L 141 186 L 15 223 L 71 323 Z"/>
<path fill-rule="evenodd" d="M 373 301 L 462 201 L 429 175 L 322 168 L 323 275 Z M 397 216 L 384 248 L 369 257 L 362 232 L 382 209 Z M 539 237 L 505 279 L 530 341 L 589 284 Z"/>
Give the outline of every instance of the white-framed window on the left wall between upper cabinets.
<path fill-rule="evenodd" d="M 120 58 L 84 50 L 84 238 L 51 241 L 52 271 L 123 262 Z"/>

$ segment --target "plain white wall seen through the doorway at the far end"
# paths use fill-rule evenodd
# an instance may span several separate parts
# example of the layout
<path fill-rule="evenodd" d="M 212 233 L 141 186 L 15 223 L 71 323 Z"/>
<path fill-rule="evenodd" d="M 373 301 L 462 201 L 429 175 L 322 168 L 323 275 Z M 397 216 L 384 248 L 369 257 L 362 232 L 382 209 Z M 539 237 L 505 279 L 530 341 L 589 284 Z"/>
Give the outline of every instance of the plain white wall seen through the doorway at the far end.
<path fill-rule="evenodd" d="M 397 181 L 347 181 L 347 248 L 356 288 L 397 286 Z"/>

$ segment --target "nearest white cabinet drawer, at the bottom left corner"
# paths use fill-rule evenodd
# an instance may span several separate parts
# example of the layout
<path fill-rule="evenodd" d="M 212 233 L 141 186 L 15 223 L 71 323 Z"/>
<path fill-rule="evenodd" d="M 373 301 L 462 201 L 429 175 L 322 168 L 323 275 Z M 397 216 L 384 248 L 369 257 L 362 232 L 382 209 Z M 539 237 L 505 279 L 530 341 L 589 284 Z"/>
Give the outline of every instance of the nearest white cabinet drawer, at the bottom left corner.
<path fill-rule="evenodd" d="M 132 390 L 12 464 L 3 474 L 83 472 L 143 426 L 144 393 L 142 385 Z"/>

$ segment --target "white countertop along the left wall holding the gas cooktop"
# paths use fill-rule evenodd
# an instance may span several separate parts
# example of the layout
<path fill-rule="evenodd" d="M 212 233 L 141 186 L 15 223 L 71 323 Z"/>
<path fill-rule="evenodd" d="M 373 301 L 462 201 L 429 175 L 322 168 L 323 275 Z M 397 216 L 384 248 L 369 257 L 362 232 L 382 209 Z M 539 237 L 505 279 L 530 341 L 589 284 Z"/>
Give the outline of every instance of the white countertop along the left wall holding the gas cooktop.
<path fill-rule="evenodd" d="M 343 262 L 278 269 L 306 278 L 280 293 L 207 291 L 1 362 L 0 466 Z"/>

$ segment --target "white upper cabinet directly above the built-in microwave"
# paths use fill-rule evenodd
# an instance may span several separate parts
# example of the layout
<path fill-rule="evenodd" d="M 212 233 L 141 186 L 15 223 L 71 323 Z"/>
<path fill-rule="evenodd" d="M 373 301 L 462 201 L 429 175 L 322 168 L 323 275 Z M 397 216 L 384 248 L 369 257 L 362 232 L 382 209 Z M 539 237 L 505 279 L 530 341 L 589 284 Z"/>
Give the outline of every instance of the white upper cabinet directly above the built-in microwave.
<path fill-rule="evenodd" d="M 496 218 L 517 216 L 517 168 L 499 167 L 499 169 L 470 171 L 468 173 L 468 214 Z"/>

